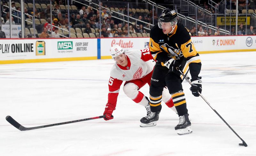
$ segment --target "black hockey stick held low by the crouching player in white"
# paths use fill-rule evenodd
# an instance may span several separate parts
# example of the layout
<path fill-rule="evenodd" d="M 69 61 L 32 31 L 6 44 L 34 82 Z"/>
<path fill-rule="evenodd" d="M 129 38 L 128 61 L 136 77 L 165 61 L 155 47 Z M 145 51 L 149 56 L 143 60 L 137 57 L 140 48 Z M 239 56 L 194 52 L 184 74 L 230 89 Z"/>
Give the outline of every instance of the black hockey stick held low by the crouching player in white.
<path fill-rule="evenodd" d="M 12 124 L 14 127 L 16 127 L 20 131 L 28 131 L 28 130 L 34 130 L 34 129 L 39 129 L 39 128 L 45 128 L 45 127 L 51 127 L 51 126 L 58 126 L 62 124 L 71 124 L 71 123 L 76 123 L 76 122 L 81 122 L 81 121 L 86 121 L 86 120 L 93 120 L 93 119 L 99 119 L 103 118 L 105 115 L 98 116 L 98 117 L 90 117 L 90 118 L 85 118 L 85 119 L 79 119 L 79 120 L 73 120 L 73 121 L 66 121 L 63 123 L 57 123 L 57 124 L 47 124 L 43 126 L 36 126 L 36 127 L 24 127 L 21 124 L 19 124 L 17 121 L 15 121 L 11 116 L 6 116 L 5 119 Z"/>

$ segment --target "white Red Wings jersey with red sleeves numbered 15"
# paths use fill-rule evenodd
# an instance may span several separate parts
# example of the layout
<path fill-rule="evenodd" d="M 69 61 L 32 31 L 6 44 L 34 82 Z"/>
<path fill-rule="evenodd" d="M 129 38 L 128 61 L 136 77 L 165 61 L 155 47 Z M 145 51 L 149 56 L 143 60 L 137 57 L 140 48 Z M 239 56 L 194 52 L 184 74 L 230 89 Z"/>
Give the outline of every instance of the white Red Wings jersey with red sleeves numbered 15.
<path fill-rule="evenodd" d="M 128 64 L 126 67 L 113 65 L 108 83 L 108 104 L 116 107 L 117 96 L 123 81 L 140 79 L 149 74 L 155 66 L 150 49 L 130 50 L 126 53 Z"/>

